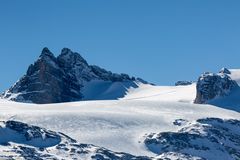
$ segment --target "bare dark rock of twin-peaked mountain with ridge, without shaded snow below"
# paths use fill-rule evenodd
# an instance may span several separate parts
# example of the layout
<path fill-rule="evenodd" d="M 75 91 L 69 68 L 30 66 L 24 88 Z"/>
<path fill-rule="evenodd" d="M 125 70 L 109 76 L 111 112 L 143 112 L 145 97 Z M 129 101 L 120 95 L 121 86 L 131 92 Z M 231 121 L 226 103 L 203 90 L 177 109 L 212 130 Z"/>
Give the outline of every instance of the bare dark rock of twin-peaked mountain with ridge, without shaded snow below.
<path fill-rule="evenodd" d="M 115 74 L 98 66 L 91 66 L 80 54 L 68 48 L 55 57 L 44 48 L 39 59 L 31 64 L 15 85 L 3 94 L 3 98 L 18 102 L 59 103 L 83 98 L 81 88 L 91 80 L 132 81 L 127 74 Z"/>

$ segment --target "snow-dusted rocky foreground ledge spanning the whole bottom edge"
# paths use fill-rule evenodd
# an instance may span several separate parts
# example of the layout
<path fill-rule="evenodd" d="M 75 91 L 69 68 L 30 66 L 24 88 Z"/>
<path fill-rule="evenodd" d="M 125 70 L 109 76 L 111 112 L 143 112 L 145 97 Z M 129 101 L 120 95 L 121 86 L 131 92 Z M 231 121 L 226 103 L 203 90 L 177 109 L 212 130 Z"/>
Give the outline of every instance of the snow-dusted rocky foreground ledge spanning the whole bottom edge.
<path fill-rule="evenodd" d="M 240 121 L 205 118 L 177 119 L 177 132 L 146 133 L 143 145 L 156 157 L 114 152 L 18 121 L 2 121 L 0 159 L 14 160 L 239 160 Z"/>

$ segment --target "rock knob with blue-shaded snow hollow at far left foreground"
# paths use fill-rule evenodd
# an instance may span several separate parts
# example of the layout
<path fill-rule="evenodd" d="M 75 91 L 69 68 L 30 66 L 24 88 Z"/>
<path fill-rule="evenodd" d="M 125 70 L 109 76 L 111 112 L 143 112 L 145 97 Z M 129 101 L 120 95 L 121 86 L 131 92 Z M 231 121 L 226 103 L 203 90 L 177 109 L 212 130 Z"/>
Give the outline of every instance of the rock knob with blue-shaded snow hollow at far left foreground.
<path fill-rule="evenodd" d="M 61 141 L 56 132 L 18 121 L 2 121 L 0 126 L 0 144 L 14 142 L 34 147 L 51 147 Z"/>

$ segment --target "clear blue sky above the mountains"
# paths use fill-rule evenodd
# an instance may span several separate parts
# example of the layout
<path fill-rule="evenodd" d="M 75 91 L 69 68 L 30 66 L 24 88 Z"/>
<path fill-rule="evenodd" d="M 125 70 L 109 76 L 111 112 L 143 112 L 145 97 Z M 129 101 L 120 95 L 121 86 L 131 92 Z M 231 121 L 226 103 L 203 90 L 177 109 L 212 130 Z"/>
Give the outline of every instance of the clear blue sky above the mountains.
<path fill-rule="evenodd" d="M 240 67 L 239 0 L 1 0 L 0 91 L 43 47 L 159 84 Z"/>

